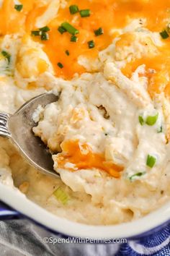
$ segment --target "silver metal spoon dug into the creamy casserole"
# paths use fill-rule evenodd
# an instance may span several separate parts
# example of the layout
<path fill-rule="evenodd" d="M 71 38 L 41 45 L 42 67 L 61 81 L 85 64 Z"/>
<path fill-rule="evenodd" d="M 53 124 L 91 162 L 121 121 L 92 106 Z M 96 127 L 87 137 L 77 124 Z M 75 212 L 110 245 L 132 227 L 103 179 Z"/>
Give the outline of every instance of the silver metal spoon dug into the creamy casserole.
<path fill-rule="evenodd" d="M 35 137 L 32 132 L 36 125 L 32 120 L 32 114 L 37 106 L 44 107 L 55 101 L 58 101 L 58 96 L 45 93 L 24 103 L 13 115 L 0 111 L 0 136 L 11 138 L 24 158 L 42 173 L 59 177 L 53 170 L 52 155 L 40 138 Z"/>

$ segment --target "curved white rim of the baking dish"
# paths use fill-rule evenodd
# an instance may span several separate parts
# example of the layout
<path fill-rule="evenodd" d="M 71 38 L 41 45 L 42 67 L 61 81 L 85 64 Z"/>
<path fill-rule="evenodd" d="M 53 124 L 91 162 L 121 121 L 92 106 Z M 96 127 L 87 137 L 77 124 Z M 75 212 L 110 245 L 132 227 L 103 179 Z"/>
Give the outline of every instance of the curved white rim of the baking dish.
<path fill-rule="evenodd" d="M 1 183 L 0 200 L 24 216 L 40 223 L 41 226 L 64 236 L 91 239 L 138 238 L 138 236 L 153 232 L 154 229 L 160 229 L 170 220 L 170 202 L 136 221 L 117 225 L 94 226 L 55 216 L 29 200 L 16 187 L 9 187 Z"/>

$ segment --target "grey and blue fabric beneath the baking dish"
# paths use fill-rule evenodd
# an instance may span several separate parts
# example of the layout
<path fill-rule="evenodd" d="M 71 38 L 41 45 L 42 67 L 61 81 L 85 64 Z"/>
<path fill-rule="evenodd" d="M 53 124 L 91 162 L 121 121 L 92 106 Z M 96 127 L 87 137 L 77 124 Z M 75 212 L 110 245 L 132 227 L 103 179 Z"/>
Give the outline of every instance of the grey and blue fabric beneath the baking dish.
<path fill-rule="evenodd" d="M 158 234 L 127 244 L 45 244 L 56 237 L 27 219 L 0 221 L 1 256 L 139 256 L 170 255 L 170 224 Z"/>

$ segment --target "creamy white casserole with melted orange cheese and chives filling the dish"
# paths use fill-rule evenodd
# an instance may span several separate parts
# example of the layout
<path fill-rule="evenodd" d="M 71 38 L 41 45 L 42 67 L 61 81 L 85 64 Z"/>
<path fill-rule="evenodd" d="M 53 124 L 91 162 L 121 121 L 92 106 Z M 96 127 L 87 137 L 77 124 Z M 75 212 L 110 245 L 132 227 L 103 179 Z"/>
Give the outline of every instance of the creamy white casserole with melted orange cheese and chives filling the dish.
<path fill-rule="evenodd" d="M 132 221 L 167 202 L 167 1 L 4 0 L 0 19 L 0 111 L 58 93 L 32 118 L 61 175 L 40 174 L 0 137 L 0 182 L 86 224 Z"/>

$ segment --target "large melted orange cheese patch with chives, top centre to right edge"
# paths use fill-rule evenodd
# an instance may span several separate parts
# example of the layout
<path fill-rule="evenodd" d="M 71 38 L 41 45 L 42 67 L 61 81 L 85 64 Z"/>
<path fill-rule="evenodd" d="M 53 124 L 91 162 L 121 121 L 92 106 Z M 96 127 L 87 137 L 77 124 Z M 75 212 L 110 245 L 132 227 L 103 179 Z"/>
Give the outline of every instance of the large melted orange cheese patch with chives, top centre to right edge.
<path fill-rule="evenodd" d="M 124 27 L 133 17 L 146 17 L 148 19 L 149 29 L 161 31 L 166 25 L 164 18 L 168 16 L 167 9 L 169 7 L 167 1 L 161 2 L 160 0 L 154 1 L 154 4 L 153 1 L 139 0 L 69 1 L 68 6 L 71 4 L 77 4 L 80 9 L 90 9 L 91 16 L 81 18 L 79 14 L 71 15 L 68 7 L 61 9 L 58 12 L 58 17 L 50 23 L 50 27 L 52 27 L 50 40 L 45 42 L 45 51 L 48 56 L 50 56 L 50 61 L 52 61 L 55 67 L 56 74 L 68 79 L 73 77 L 75 73 L 81 74 L 85 71 L 77 62 L 80 55 L 88 56 L 93 59 L 97 57 L 99 51 L 102 51 L 112 43 L 114 38 L 114 33 L 110 33 L 112 28 Z M 152 12 L 150 11 L 151 9 Z M 154 9 L 157 20 L 155 16 L 153 17 Z M 75 16 L 76 21 L 73 22 L 73 17 Z M 61 25 L 63 21 L 70 22 L 79 30 L 79 40 L 77 43 L 70 42 L 71 36 L 68 33 L 60 35 L 56 30 L 56 27 Z M 99 27 L 103 28 L 104 35 L 96 37 L 94 30 L 97 30 Z M 115 34 L 115 36 L 116 35 L 117 34 Z M 87 42 L 89 40 L 94 40 L 95 47 L 92 49 L 88 48 Z M 69 57 L 65 54 L 66 50 L 70 51 Z M 57 60 L 63 64 L 63 69 L 57 67 Z"/>

